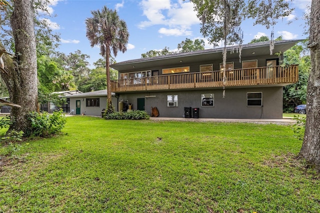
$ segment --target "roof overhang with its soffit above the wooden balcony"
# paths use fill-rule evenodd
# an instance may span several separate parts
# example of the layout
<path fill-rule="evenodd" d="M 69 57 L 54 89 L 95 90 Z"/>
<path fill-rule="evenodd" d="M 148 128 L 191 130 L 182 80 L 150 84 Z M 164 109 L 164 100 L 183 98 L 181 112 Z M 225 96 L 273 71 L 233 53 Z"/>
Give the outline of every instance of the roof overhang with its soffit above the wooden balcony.
<path fill-rule="evenodd" d="M 275 41 L 273 54 L 278 52 L 284 52 L 285 50 L 292 47 L 295 43 L 301 40 L 280 40 Z M 249 43 L 243 44 L 241 50 L 241 58 L 252 57 L 252 55 L 269 55 L 269 41 L 259 42 L 259 43 Z M 227 47 L 227 58 L 238 58 L 238 46 L 228 46 Z M 111 64 L 110 67 L 118 71 L 132 71 L 132 70 L 149 70 L 152 67 L 164 67 L 169 65 L 185 66 L 187 64 L 198 63 L 198 62 L 207 62 L 214 60 L 222 61 L 222 50 L 223 48 L 213 48 L 213 49 L 204 49 L 193 52 L 183 52 L 175 53 L 164 56 L 150 57 L 150 58 L 139 58 L 133 60 L 127 60 L 123 62 L 118 62 Z M 231 53 L 232 52 L 232 53 Z"/>

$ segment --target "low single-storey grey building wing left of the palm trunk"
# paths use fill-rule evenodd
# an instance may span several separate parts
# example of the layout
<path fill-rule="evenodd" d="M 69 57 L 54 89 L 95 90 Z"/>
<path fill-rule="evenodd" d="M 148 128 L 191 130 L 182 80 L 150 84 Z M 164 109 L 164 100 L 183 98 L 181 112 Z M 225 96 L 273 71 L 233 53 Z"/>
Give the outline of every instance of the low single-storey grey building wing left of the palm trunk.
<path fill-rule="evenodd" d="M 106 89 L 65 95 L 65 97 L 69 98 L 71 114 L 101 116 L 101 111 L 106 108 Z M 112 93 L 112 103 L 117 102 L 118 99 Z M 117 107 L 115 107 L 115 110 L 117 110 Z"/>

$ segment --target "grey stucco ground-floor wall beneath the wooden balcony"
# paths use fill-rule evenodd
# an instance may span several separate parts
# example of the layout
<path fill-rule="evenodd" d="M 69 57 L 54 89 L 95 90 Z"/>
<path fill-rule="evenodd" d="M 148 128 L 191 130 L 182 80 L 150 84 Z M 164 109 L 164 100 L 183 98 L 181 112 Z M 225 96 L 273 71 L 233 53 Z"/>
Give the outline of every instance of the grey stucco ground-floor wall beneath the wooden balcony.
<path fill-rule="evenodd" d="M 247 106 L 247 92 L 262 92 L 262 106 Z M 201 106 L 201 94 L 208 93 L 214 94 L 214 105 Z M 183 117 L 186 106 L 198 107 L 200 118 L 282 118 L 282 86 L 226 88 L 224 98 L 222 89 L 167 90 L 117 95 L 119 100 L 127 99 L 132 104 L 132 109 L 137 109 L 137 98 L 144 98 L 145 111 L 151 113 L 151 107 L 155 106 L 160 117 Z M 167 95 L 177 95 L 178 106 L 167 106 Z"/>

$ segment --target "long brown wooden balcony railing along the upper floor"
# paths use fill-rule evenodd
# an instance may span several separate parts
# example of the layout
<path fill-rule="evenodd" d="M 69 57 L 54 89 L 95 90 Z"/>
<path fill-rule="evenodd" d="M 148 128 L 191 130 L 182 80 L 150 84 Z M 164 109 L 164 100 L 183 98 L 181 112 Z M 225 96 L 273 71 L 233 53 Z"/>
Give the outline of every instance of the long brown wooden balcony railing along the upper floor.
<path fill-rule="evenodd" d="M 298 81 L 298 65 L 227 70 L 225 86 L 285 84 Z M 112 92 L 221 87 L 222 71 L 190 72 L 111 80 Z"/>

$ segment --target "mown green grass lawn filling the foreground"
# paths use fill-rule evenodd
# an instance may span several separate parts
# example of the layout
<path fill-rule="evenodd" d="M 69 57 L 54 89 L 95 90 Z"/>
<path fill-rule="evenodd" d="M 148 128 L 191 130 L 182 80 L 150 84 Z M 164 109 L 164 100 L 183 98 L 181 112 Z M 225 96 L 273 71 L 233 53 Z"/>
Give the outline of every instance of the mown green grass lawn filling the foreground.
<path fill-rule="evenodd" d="M 300 147 L 285 125 L 71 116 L 3 160 L 0 212 L 319 212 Z"/>

